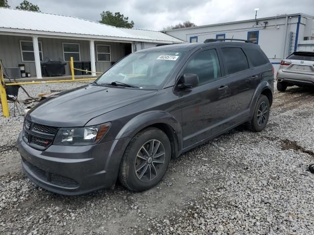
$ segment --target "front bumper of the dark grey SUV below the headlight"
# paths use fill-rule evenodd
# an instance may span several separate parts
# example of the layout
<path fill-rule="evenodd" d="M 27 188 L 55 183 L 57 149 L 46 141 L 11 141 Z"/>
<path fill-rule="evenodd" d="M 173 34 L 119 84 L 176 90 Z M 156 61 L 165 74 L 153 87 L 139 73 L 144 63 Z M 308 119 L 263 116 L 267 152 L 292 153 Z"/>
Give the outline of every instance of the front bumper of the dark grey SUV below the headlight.
<path fill-rule="evenodd" d="M 38 186 L 64 195 L 110 188 L 117 179 L 129 138 L 86 146 L 51 145 L 36 150 L 18 138 L 22 168 Z"/>

